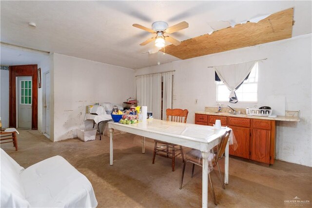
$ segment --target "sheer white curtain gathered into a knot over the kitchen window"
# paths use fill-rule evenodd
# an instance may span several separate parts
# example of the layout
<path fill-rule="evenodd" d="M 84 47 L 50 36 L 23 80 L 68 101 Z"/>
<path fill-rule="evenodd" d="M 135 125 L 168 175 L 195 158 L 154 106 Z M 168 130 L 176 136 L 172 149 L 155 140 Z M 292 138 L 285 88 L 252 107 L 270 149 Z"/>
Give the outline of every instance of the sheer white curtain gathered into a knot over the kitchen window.
<path fill-rule="evenodd" d="M 220 80 L 228 87 L 230 103 L 237 103 L 235 90 L 244 82 L 257 61 L 245 62 L 224 66 L 214 66 Z"/>

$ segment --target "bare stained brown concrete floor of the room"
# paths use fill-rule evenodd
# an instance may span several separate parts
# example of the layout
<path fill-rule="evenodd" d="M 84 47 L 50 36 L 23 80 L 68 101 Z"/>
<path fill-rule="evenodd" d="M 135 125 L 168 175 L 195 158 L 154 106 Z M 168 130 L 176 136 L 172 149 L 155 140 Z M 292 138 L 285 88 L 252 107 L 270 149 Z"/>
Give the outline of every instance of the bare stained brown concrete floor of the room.
<path fill-rule="evenodd" d="M 19 151 L 12 143 L 1 148 L 25 168 L 55 155 L 63 156 L 90 180 L 99 208 L 201 207 L 201 167 L 195 167 L 191 178 L 191 165 L 187 165 L 180 190 L 182 161 L 176 160 L 175 172 L 171 171 L 170 159 L 156 157 L 152 165 L 153 140 L 146 139 L 146 153 L 142 154 L 139 136 L 115 135 L 114 166 L 110 166 L 108 137 L 53 143 L 37 130 L 19 131 Z M 225 190 L 215 173 L 211 176 L 219 208 L 312 207 L 311 167 L 278 160 L 273 166 L 262 166 L 230 158 L 230 184 Z M 285 202 L 296 196 L 310 204 Z M 209 207 L 216 207 L 211 191 L 208 197 Z"/>

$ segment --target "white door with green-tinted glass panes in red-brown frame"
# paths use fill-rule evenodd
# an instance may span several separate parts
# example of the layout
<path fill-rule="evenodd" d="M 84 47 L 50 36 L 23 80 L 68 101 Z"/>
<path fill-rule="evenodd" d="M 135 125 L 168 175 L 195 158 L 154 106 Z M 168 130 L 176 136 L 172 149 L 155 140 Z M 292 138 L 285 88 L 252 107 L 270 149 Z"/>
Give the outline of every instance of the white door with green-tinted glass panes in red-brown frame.
<path fill-rule="evenodd" d="M 18 127 L 31 129 L 32 77 L 18 77 Z"/>

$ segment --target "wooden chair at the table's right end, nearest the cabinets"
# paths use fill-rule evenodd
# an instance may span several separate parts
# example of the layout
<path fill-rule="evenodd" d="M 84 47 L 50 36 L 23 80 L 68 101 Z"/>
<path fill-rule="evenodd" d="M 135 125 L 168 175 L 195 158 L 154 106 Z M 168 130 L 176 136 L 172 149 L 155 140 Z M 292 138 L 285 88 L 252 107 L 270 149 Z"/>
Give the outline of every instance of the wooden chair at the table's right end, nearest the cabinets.
<path fill-rule="evenodd" d="M 217 205 L 216 204 L 216 199 L 215 199 L 215 190 L 214 190 L 214 185 L 213 185 L 213 182 L 212 182 L 212 179 L 211 179 L 211 176 L 210 176 L 210 172 L 214 170 L 215 166 L 218 167 L 219 176 L 220 176 L 220 179 L 221 179 L 221 184 L 222 184 L 223 189 L 225 189 L 224 181 L 223 181 L 223 177 L 221 175 L 221 171 L 220 171 L 220 167 L 219 167 L 218 161 L 224 155 L 225 147 L 226 147 L 226 145 L 228 143 L 228 140 L 229 140 L 229 137 L 230 137 L 230 133 L 231 133 L 231 130 L 226 131 L 224 133 L 224 135 L 222 136 L 220 143 L 212 149 L 212 151 L 213 151 L 213 157 L 211 158 L 212 159 L 212 161 L 211 161 L 212 163 L 208 163 L 208 165 L 209 165 L 209 167 L 208 167 L 208 170 L 209 170 L 208 180 L 210 181 L 210 185 L 211 185 L 211 188 L 212 188 L 215 205 Z M 193 163 L 192 175 L 191 175 L 192 178 L 193 178 L 193 175 L 194 175 L 195 165 L 202 167 L 202 156 L 201 156 L 201 151 L 200 150 L 192 149 L 188 153 L 184 154 L 184 156 L 185 156 L 184 157 L 185 162 L 184 162 L 182 173 L 181 173 L 180 189 L 182 188 L 183 177 L 184 177 L 184 170 L 185 170 L 186 163 L 187 162 Z"/>

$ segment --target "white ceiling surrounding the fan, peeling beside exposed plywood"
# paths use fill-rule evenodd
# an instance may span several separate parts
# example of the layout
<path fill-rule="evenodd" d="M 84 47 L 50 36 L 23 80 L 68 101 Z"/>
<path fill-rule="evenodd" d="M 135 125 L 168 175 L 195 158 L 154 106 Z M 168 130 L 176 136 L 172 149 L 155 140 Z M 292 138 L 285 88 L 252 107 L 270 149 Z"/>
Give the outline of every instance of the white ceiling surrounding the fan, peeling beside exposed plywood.
<path fill-rule="evenodd" d="M 172 35 L 183 41 L 222 28 L 224 21 L 239 23 L 294 7 L 292 36 L 312 30 L 311 1 L 0 1 L 0 6 L 1 42 L 133 69 L 178 60 L 145 53 L 153 42 L 139 43 L 152 35 L 133 23 L 187 21 L 189 28 Z M 37 28 L 28 26 L 30 21 Z"/>

